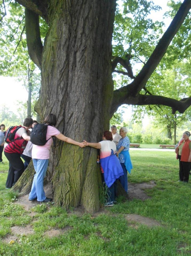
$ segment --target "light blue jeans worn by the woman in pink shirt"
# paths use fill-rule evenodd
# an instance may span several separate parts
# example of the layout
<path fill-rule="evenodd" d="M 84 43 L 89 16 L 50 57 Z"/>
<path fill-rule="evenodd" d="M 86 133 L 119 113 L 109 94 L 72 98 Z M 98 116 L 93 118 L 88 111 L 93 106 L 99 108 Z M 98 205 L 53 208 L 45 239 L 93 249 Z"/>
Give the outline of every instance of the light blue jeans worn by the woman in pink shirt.
<path fill-rule="evenodd" d="M 33 159 L 35 169 L 34 180 L 29 194 L 29 199 L 37 198 L 37 201 L 42 202 L 45 200 L 45 191 L 43 189 L 43 180 L 46 175 L 49 159 Z"/>

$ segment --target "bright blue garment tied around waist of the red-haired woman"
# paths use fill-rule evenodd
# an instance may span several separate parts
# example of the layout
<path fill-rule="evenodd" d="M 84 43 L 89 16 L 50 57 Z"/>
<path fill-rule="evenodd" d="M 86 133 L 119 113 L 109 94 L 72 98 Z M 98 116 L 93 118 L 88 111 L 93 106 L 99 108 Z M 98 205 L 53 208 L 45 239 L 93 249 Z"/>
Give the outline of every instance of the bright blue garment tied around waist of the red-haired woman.
<path fill-rule="evenodd" d="M 101 158 L 100 164 L 104 170 L 104 180 L 108 188 L 111 187 L 115 180 L 124 175 L 120 161 L 116 155 Z"/>

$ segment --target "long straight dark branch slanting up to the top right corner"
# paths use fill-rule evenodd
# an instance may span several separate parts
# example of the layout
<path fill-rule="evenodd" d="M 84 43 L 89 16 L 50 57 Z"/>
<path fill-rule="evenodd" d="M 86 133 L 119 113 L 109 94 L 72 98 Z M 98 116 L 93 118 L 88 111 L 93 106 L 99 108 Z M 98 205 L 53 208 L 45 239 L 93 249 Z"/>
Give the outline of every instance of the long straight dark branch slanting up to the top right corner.
<path fill-rule="evenodd" d="M 128 87 L 130 88 L 130 93 L 132 95 L 134 96 L 138 95 L 139 92 L 144 87 L 144 85 L 146 84 L 146 82 L 149 80 L 153 71 L 156 69 L 162 57 L 165 55 L 166 49 L 168 48 L 173 37 L 176 35 L 178 29 L 182 25 L 190 8 L 191 8 L 191 0 L 184 0 L 177 14 L 175 15 L 172 22 L 170 23 L 170 26 L 168 27 L 168 29 L 166 30 L 166 32 L 158 42 L 149 60 L 143 66 L 143 68 L 141 69 L 139 74 L 136 76 L 134 81 L 128 85 Z"/>

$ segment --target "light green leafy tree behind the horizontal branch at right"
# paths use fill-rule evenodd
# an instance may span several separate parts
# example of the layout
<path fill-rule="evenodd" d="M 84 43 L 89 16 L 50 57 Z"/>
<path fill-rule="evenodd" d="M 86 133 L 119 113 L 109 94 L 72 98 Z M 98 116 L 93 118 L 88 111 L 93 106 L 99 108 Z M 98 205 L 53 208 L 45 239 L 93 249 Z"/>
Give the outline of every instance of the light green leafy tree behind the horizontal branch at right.
<path fill-rule="evenodd" d="M 158 67 L 153 73 L 148 83 L 148 90 L 153 94 L 163 93 L 166 97 L 173 97 L 180 100 L 186 98 L 191 94 L 190 89 L 190 68 L 189 62 L 186 61 L 171 61 L 170 69 Z M 172 139 L 176 144 L 176 130 L 183 122 L 191 120 L 191 107 L 189 107 L 183 114 L 178 112 L 172 114 L 172 109 L 168 106 L 149 105 L 144 107 L 134 107 L 134 119 L 138 117 L 140 112 L 147 113 L 153 116 L 155 125 L 166 129 L 168 138 Z"/>

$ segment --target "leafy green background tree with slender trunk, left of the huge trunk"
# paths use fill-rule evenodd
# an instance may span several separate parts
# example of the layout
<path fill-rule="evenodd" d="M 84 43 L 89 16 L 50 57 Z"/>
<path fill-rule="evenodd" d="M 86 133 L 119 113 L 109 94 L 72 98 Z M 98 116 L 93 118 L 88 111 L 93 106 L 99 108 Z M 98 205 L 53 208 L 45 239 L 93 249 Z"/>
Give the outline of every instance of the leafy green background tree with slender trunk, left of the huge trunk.
<path fill-rule="evenodd" d="M 44 24 L 42 28 L 45 29 Z M 31 117 L 34 113 L 31 102 L 39 97 L 41 76 L 27 52 L 24 8 L 15 1 L 9 1 L 7 16 L 2 20 L 0 46 L 0 75 L 17 77 L 22 81 L 28 92 L 25 117 Z"/>

